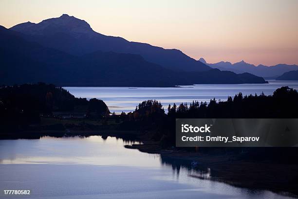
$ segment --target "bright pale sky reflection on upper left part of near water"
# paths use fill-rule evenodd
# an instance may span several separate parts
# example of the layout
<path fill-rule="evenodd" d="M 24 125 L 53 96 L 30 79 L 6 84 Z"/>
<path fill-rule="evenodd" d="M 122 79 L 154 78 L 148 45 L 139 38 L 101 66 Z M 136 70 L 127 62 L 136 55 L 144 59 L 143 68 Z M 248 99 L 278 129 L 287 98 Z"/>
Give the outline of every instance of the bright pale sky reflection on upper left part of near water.
<path fill-rule="evenodd" d="M 42 137 L 40 139 L 0 140 L 2 164 L 94 164 L 157 166 L 152 155 L 140 155 L 124 145 L 142 144 L 135 139 L 115 137 Z M 138 159 L 138 160 L 137 160 Z"/>

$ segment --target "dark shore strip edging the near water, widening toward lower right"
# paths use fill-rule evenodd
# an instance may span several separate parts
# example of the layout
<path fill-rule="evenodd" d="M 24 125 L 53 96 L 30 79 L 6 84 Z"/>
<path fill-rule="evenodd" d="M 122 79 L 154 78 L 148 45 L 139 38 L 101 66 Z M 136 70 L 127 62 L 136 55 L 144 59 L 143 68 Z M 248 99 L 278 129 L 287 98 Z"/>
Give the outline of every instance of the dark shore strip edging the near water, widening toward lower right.
<path fill-rule="evenodd" d="M 27 135 L 21 137 L 20 135 Z M 30 135 L 30 137 L 28 137 Z M 175 166 L 210 172 L 210 177 L 191 175 L 192 178 L 223 182 L 235 187 L 268 190 L 274 193 L 298 198 L 298 180 L 289 183 L 287 180 L 298 171 L 295 164 L 272 163 L 269 161 L 238 160 L 235 154 L 206 154 L 202 152 L 187 152 L 177 149 L 163 149 L 158 141 L 150 139 L 149 135 L 139 131 L 122 130 L 72 130 L 72 131 L 23 131 L 16 138 L 8 139 L 40 139 L 50 137 L 102 136 L 103 139 L 116 137 L 140 141 L 142 144 L 124 145 L 128 149 L 137 149 L 143 153 L 159 154 L 162 161 Z M 20 137 L 19 137 L 20 136 Z M 3 134 L 1 139 L 5 139 Z M 298 176 L 296 177 L 298 179 Z"/>

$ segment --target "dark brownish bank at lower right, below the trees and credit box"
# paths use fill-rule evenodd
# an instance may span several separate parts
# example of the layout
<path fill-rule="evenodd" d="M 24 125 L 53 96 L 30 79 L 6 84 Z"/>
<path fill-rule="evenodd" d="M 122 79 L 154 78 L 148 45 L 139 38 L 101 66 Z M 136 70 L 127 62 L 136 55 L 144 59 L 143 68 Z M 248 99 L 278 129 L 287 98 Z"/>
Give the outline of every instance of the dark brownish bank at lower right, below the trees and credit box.
<path fill-rule="evenodd" d="M 158 142 L 147 140 L 143 143 L 125 145 L 125 147 L 137 149 L 143 153 L 160 154 L 161 158 L 169 163 L 179 162 L 179 166 L 200 170 L 203 173 L 210 172 L 210 177 L 191 175 L 192 178 L 223 182 L 240 188 L 267 190 L 279 195 L 298 198 L 298 181 L 291 184 L 287 182 L 287 177 L 293 174 L 291 171 L 297 170 L 295 164 L 236 160 L 233 154 L 210 155 L 200 152 L 165 150 L 158 146 Z"/>

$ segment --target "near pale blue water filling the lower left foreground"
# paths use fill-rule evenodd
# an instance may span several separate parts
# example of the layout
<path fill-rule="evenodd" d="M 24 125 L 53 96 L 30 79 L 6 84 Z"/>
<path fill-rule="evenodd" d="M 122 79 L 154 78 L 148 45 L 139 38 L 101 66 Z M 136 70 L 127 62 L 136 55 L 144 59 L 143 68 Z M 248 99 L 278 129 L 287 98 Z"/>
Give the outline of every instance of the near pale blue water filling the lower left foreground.
<path fill-rule="evenodd" d="M 270 191 L 236 188 L 159 155 L 126 149 L 99 136 L 0 140 L 0 198 L 42 199 L 286 199 Z M 31 195 L 4 196 L 28 189 Z"/>

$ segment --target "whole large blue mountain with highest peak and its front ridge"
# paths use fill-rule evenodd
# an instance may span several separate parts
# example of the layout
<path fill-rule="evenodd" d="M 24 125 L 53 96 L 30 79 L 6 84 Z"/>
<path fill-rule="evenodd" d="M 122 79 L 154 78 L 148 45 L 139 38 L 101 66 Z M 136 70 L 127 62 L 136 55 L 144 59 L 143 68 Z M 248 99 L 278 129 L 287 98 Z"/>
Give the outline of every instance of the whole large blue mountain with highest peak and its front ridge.
<path fill-rule="evenodd" d="M 265 83 L 248 73 L 212 69 L 180 50 L 105 36 L 63 14 L 39 23 L 0 26 L 2 84 L 43 81 L 61 86 L 174 86 Z"/>

